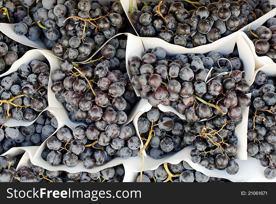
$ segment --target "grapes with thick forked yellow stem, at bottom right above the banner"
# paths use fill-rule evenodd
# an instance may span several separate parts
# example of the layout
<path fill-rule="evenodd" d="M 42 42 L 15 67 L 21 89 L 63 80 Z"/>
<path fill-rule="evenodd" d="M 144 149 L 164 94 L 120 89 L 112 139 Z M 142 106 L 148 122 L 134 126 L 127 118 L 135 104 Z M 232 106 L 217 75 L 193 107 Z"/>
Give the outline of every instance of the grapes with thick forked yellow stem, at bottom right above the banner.
<path fill-rule="evenodd" d="M 178 164 L 164 163 L 155 170 L 142 172 L 136 182 L 230 182 L 227 179 L 208 177 L 195 171 L 187 162 Z"/>

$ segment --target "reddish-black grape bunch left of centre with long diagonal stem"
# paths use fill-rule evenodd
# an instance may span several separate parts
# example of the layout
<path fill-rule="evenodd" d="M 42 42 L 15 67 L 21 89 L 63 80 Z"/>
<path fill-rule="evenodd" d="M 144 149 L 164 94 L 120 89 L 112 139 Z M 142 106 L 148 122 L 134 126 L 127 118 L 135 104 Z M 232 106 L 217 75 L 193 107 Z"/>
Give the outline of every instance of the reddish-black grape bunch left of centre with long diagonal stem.
<path fill-rule="evenodd" d="M 138 97 L 126 72 L 125 47 L 125 40 L 113 38 L 101 49 L 98 59 L 74 64 L 75 67 L 63 59 L 60 68 L 51 73 L 51 91 L 70 112 L 72 122 L 95 123 L 99 128 L 126 122 L 126 113 Z"/>

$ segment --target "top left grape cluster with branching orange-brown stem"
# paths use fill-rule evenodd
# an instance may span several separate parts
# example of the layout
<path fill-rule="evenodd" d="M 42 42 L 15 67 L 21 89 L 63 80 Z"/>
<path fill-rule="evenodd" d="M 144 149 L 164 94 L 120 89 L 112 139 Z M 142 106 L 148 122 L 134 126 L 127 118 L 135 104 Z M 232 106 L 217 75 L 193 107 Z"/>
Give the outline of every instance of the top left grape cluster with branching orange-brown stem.
<path fill-rule="evenodd" d="M 33 16 L 23 16 L 14 32 L 30 40 L 43 36 L 48 49 L 70 61 L 89 59 L 94 50 L 125 27 L 125 18 L 121 16 L 124 10 L 119 1 L 42 0 L 35 7 Z"/>

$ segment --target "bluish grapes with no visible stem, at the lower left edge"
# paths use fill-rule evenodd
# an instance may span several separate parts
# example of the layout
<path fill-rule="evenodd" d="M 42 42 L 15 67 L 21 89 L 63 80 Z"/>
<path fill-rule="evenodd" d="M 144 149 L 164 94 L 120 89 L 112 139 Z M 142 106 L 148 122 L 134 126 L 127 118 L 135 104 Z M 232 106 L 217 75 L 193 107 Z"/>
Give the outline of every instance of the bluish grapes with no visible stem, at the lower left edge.
<path fill-rule="evenodd" d="M 0 129 L 0 154 L 12 147 L 40 146 L 57 129 L 58 122 L 49 111 L 43 112 L 29 126 L 2 127 Z"/>

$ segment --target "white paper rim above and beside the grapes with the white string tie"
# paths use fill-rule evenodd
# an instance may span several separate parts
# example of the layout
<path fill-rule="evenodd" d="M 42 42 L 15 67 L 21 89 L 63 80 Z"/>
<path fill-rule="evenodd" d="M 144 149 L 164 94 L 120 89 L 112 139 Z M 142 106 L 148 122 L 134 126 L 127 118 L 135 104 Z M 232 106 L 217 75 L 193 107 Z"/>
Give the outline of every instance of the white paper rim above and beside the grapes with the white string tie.
<path fill-rule="evenodd" d="M 248 83 L 251 82 L 254 73 L 254 58 L 252 51 L 250 50 L 247 42 L 244 40 L 246 34 L 244 32 L 234 32 L 228 37 L 221 38 L 211 44 L 194 47 L 185 48 L 178 45 L 173 45 L 168 42 L 163 41 L 159 38 L 152 37 L 137 37 L 132 34 L 128 35 L 127 45 L 126 45 L 126 67 L 130 79 L 133 75 L 129 72 L 128 60 L 131 56 L 143 57 L 144 51 L 148 48 L 154 48 L 161 46 L 166 50 L 167 55 L 176 55 L 178 53 L 206 53 L 210 51 L 221 52 L 223 54 L 229 54 L 233 52 L 235 44 L 237 44 L 239 57 L 243 62 L 244 78 Z M 133 49 L 135 47 L 135 49 Z M 139 91 L 135 89 L 137 96 L 140 96 Z"/>

